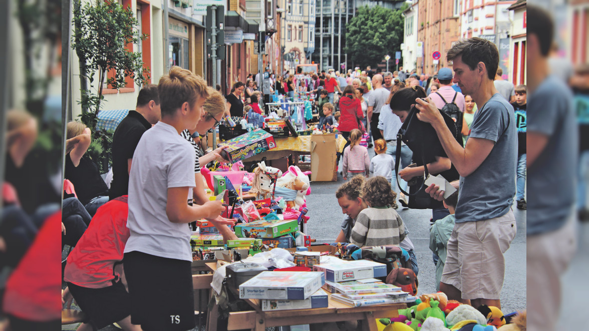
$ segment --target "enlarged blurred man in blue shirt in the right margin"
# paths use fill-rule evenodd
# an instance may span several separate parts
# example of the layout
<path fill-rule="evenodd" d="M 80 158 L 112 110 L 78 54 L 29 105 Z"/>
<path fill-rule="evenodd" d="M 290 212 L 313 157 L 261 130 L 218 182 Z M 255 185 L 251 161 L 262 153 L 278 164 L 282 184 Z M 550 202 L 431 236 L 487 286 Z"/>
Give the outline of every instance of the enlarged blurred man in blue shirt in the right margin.
<path fill-rule="evenodd" d="M 571 330 L 556 327 L 555 312 L 560 312 L 561 277 L 576 249 L 578 126 L 570 89 L 550 73 L 550 14 L 532 5 L 527 13 L 527 322 L 530 330 Z"/>

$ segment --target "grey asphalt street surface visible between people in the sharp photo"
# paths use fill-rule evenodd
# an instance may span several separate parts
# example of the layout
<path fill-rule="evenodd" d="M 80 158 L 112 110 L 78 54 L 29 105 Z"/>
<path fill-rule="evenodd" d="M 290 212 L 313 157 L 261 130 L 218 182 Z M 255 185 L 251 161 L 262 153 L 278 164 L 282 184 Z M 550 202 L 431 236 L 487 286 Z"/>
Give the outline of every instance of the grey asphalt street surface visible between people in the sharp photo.
<path fill-rule="evenodd" d="M 369 156 L 373 155 L 373 149 L 370 148 Z M 307 196 L 307 208 L 309 208 L 307 215 L 310 219 L 306 224 L 305 232 L 316 239 L 317 243 L 334 242 L 340 232 L 340 225 L 345 215 L 337 204 L 335 191 L 344 182 L 342 175 L 338 174 L 337 182 L 311 183 L 311 195 Z M 501 306 L 504 313 L 524 310 L 526 307 L 526 212 L 515 208 L 515 204 L 513 210 L 517 221 L 517 235 L 511 247 L 505 252 L 505 280 L 501 291 Z M 431 209 L 406 209 L 399 205 L 397 211 L 409 229 L 409 238 L 415 246 L 419 266 L 418 295 L 434 293 L 436 292 L 435 265 L 432 261 L 432 252 L 429 250 Z"/>

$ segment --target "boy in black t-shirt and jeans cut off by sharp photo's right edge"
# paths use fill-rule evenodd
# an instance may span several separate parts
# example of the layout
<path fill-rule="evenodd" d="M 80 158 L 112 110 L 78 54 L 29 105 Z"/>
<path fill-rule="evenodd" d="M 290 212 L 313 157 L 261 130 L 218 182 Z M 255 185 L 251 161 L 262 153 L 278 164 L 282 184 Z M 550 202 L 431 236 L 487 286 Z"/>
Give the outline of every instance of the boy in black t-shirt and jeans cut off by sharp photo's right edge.
<path fill-rule="evenodd" d="M 518 209 L 527 209 L 525 201 L 525 176 L 526 176 L 526 108 L 527 108 L 527 88 L 525 85 L 515 87 L 515 102 L 511 103 L 515 111 L 515 127 L 517 128 L 518 150 L 517 150 L 517 200 Z"/>

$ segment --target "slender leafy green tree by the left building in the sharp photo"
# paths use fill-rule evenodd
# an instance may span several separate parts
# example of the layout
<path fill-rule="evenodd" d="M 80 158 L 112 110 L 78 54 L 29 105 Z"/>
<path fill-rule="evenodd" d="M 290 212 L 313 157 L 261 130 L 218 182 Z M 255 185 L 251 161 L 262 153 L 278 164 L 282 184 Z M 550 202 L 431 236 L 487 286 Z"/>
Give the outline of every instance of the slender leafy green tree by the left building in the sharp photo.
<path fill-rule="evenodd" d="M 106 83 L 118 90 L 125 86 L 126 77 L 133 78 L 138 86 L 148 83 L 149 69 L 144 67 L 141 53 L 127 50 L 128 45 L 138 44 L 148 36 L 138 35 L 133 10 L 123 8 L 117 1 L 96 0 L 95 4 L 82 5 L 81 0 L 74 0 L 72 23 L 72 49 L 80 59 L 81 121 L 92 130 L 88 155 L 105 171 L 111 162 L 112 132 L 96 127 L 104 101 L 102 89 Z M 107 79 L 108 72 L 114 73 L 114 77 Z"/>

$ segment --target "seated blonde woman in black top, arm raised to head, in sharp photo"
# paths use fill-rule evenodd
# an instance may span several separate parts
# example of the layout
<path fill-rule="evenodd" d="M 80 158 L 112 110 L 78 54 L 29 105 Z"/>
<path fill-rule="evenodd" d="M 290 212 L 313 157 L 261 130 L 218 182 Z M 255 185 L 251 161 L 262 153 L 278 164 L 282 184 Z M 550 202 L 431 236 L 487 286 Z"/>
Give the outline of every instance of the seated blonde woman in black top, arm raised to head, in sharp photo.
<path fill-rule="evenodd" d="M 90 142 L 90 128 L 77 121 L 68 123 L 65 179 L 74 184 L 78 199 L 90 216 L 94 216 L 96 210 L 108 202 L 108 186 L 100 176 L 94 161 L 84 155 Z"/>

